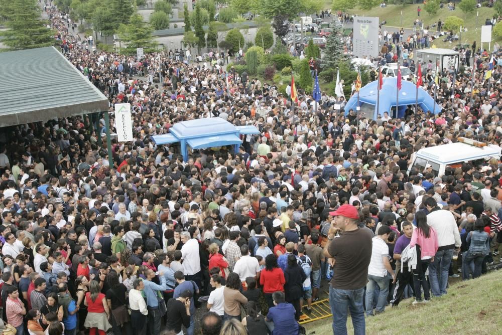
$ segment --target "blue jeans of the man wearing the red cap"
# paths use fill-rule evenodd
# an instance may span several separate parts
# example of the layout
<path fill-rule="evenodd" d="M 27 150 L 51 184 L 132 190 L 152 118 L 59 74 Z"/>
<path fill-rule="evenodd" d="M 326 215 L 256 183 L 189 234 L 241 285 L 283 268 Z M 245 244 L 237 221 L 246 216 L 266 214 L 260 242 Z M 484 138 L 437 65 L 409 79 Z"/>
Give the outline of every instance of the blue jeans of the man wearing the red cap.
<path fill-rule="evenodd" d="M 362 298 L 364 287 L 355 290 L 343 290 L 329 286 L 329 306 L 333 314 L 333 333 L 336 335 L 347 334 L 347 308 L 350 310 L 354 335 L 366 333 L 364 320 L 364 307 Z"/>

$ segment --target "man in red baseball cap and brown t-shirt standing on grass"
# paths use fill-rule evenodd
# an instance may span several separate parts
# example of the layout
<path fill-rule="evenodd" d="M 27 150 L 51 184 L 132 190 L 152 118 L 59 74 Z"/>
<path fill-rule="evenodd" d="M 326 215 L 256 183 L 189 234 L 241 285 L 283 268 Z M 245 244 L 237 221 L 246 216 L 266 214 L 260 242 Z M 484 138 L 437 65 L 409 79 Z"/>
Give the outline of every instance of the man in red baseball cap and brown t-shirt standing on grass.
<path fill-rule="evenodd" d="M 347 333 L 347 309 L 355 334 L 364 334 L 363 296 L 371 259 L 371 239 L 368 229 L 359 228 L 359 213 L 352 205 L 342 205 L 330 212 L 334 217 L 324 247 L 324 255 L 333 264 L 329 288 L 329 304 L 333 313 L 333 333 Z M 336 235 L 339 236 L 336 237 Z M 336 237 L 336 238 L 335 238 Z"/>

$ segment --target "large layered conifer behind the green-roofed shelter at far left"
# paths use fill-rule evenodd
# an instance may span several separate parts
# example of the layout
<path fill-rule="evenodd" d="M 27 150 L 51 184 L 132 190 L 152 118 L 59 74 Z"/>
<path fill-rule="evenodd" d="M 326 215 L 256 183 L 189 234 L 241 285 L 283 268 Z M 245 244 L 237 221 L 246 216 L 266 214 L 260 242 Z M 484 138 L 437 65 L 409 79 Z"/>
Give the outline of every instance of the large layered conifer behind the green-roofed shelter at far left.
<path fill-rule="evenodd" d="M 56 45 L 54 32 L 41 20 L 41 9 L 36 0 L 11 0 L 2 10 L 6 18 L 5 31 L 0 31 L 2 43 L 10 50 L 42 48 Z"/>

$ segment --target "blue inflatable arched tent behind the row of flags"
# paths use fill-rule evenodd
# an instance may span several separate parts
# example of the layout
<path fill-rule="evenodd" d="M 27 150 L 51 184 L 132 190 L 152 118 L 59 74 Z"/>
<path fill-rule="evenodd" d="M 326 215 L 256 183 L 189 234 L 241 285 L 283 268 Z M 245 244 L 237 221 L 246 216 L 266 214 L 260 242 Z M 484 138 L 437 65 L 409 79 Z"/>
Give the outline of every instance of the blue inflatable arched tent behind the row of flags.
<path fill-rule="evenodd" d="M 373 81 L 362 87 L 359 91 L 359 106 L 362 104 L 369 104 L 374 106 L 373 120 L 376 120 L 377 114 L 384 114 L 384 112 L 390 112 L 392 107 L 396 107 L 396 90 L 397 90 L 397 78 L 384 78 L 384 85 L 380 90 L 380 103 L 379 111 L 376 109 L 376 100 L 378 95 L 377 89 L 378 81 Z M 411 81 L 402 81 L 402 88 L 399 91 L 399 108 L 397 117 L 404 117 L 404 113 L 407 105 L 415 105 L 417 98 L 417 88 L 416 85 Z M 419 87 L 418 88 L 418 105 L 424 111 L 434 111 L 434 105 L 436 105 L 436 114 L 441 111 L 441 106 L 439 106 L 434 98 L 427 93 L 426 90 Z M 350 109 L 356 110 L 357 107 L 357 94 L 352 95 L 345 105 L 345 114 L 348 114 Z"/>

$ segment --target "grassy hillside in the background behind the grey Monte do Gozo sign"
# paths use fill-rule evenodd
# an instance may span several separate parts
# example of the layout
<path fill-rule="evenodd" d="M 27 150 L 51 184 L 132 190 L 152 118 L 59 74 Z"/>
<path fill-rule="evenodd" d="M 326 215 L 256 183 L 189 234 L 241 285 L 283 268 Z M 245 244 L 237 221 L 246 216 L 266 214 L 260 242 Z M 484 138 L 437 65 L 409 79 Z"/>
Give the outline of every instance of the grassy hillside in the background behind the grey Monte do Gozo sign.
<path fill-rule="evenodd" d="M 329 0 L 327 0 L 329 2 Z M 467 32 L 462 33 L 462 43 L 469 43 L 476 41 L 476 44 L 480 45 L 481 40 L 481 26 L 484 25 L 484 22 L 487 18 L 491 18 L 494 15 L 494 10 L 492 8 L 481 7 L 476 9 L 474 13 L 465 15 L 460 9 L 457 7 L 455 11 L 448 10 L 447 7 L 438 10 L 436 15 L 427 14 L 423 5 L 421 5 L 422 12 L 420 14 L 420 19 L 424 22 L 424 25 L 432 25 L 437 23 L 439 19 L 442 22 L 446 20 L 449 16 L 456 16 L 462 20 L 464 20 L 465 28 L 467 28 Z M 363 11 L 360 9 L 350 10 L 349 13 L 354 13 L 359 16 L 371 16 L 371 17 L 379 17 L 380 22 L 387 20 L 388 26 L 393 27 L 403 27 L 413 29 L 413 21 L 418 19 L 417 17 L 417 7 L 419 5 L 387 5 L 386 8 L 380 8 L 377 6 L 373 8 L 371 11 Z M 403 11 L 403 19 L 401 24 L 401 11 Z M 476 26 L 476 12 L 479 12 L 478 22 Z M 476 30 L 477 27 L 477 30 Z M 436 31 L 436 29 L 431 29 L 432 31 Z M 458 33 L 458 32 L 457 32 Z M 493 35 L 492 35 L 493 36 Z M 493 42 L 497 41 L 497 39 L 493 36 Z M 458 43 L 458 42 L 457 42 Z M 456 43 L 455 43 L 456 44 Z M 444 43 L 441 38 L 436 39 L 433 43 L 438 48 L 448 48 L 452 49 L 455 44 Z"/>

